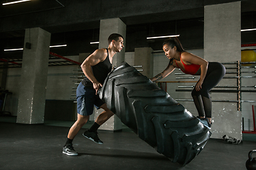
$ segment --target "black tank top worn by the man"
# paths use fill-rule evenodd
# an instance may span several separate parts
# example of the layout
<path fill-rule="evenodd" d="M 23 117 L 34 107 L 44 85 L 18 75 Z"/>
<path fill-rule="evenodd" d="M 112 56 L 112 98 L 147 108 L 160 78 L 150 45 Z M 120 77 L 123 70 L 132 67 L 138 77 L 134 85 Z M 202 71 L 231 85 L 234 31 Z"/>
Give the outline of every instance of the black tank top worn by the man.
<path fill-rule="evenodd" d="M 110 63 L 108 49 L 106 48 L 106 50 L 107 50 L 106 59 L 103 62 L 99 62 L 95 66 L 92 66 L 93 75 L 95 76 L 97 81 L 99 81 L 100 84 L 102 85 L 105 79 L 107 78 L 107 74 L 109 74 L 112 70 L 112 64 Z M 88 79 L 87 77 L 85 77 L 85 79 L 82 80 L 82 85 L 87 88 L 93 89 L 92 81 L 90 81 L 90 79 Z"/>

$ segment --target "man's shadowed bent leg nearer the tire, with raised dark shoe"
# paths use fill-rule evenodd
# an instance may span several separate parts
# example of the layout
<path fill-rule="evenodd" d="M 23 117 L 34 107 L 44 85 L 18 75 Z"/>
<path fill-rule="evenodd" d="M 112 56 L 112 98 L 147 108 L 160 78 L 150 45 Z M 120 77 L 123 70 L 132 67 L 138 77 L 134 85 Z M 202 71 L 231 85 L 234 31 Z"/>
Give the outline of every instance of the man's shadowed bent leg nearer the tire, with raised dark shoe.
<path fill-rule="evenodd" d="M 100 125 L 105 123 L 114 113 L 110 111 L 109 108 L 107 108 L 107 104 L 104 103 L 100 108 L 103 108 L 104 111 L 98 115 L 97 119 L 95 120 L 95 123 L 92 124 L 91 128 L 89 130 L 86 130 L 82 135 L 86 137 L 89 140 L 92 140 L 93 142 L 96 142 L 97 144 L 103 144 L 103 142 L 100 140 L 100 138 L 97 136 L 97 129 L 100 128 Z"/>

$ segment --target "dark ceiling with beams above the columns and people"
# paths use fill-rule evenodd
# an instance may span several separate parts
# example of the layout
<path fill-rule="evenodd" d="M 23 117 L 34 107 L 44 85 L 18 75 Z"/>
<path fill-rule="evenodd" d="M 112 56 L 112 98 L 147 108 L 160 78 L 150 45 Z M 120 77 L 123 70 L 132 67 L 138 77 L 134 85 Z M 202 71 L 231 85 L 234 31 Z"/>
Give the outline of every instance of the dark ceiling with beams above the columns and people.
<path fill-rule="evenodd" d="M 100 20 L 121 18 L 127 24 L 127 52 L 135 47 L 161 50 L 161 39 L 149 41 L 146 37 L 174 33 L 183 35 L 180 40 L 185 48 L 198 48 L 203 47 L 203 6 L 232 1 L 235 0 L 33 0 L 0 6 L 0 45 L 1 49 L 23 47 L 24 30 L 41 27 L 52 33 L 51 45 L 68 44 L 51 49 L 52 52 L 64 56 L 93 52 L 97 46 L 90 42 L 98 40 Z M 241 2 L 242 28 L 251 28 L 256 25 L 256 1 Z M 256 40 L 245 35 L 243 42 Z M 22 52 L 2 52 L 1 57 L 22 58 Z"/>

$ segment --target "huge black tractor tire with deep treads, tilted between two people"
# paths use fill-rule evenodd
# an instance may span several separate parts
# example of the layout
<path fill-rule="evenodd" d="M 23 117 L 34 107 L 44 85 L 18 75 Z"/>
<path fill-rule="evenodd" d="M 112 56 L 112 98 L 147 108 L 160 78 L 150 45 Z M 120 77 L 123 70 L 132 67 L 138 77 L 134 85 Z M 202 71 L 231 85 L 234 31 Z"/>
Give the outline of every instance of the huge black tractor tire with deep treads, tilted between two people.
<path fill-rule="evenodd" d="M 124 125 L 172 162 L 191 162 L 212 134 L 198 118 L 126 62 L 110 72 L 99 95 Z"/>

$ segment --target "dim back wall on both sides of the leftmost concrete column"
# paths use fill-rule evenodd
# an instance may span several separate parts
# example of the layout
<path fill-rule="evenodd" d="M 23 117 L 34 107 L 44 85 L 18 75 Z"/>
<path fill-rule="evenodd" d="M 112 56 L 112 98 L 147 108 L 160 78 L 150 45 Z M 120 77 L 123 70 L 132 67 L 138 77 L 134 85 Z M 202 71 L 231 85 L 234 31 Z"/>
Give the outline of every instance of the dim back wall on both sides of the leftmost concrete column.
<path fill-rule="evenodd" d="M 68 58 L 78 61 L 78 56 Z M 50 62 L 52 61 L 50 60 Z M 70 77 L 73 76 L 73 69 L 77 68 L 77 65 L 48 67 L 46 100 L 70 100 L 74 86 Z M 7 98 L 5 111 L 11 112 L 12 115 L 17 115 L 20 80 L 21 68 L 8 69 L 6 89 L 12 94 Z"/>

